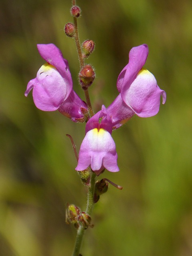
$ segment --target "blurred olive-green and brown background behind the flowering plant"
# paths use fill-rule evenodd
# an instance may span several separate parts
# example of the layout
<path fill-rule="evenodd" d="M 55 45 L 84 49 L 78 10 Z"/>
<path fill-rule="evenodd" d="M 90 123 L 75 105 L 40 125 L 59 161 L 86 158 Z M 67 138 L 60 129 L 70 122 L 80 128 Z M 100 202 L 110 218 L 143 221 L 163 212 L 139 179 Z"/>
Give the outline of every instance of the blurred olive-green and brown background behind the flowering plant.
<path fill-rule="evenodd" d="M 133 46 L 146 43 L 150 70 L 167 102 L 158 115 L 133 117 L 113 132 L 120 172 L 95 205 L 83 256 L 192 255 L 192 2 L 79 0 L 81 42 L 95 41 L 94 110 L 117 96 L 116 79 Z M 36 44 L 54 43 L 78 86 L 75 44 L 63 32 L 70 0 L 0 2 L 0 256 L 70 256 L 76 230 L 66 202 L 82 210 L 86 188 L 74 168 L 70 134 L 79 149 L 84 124 L 42 112 L 24 97 L 44 64 Z"/>

